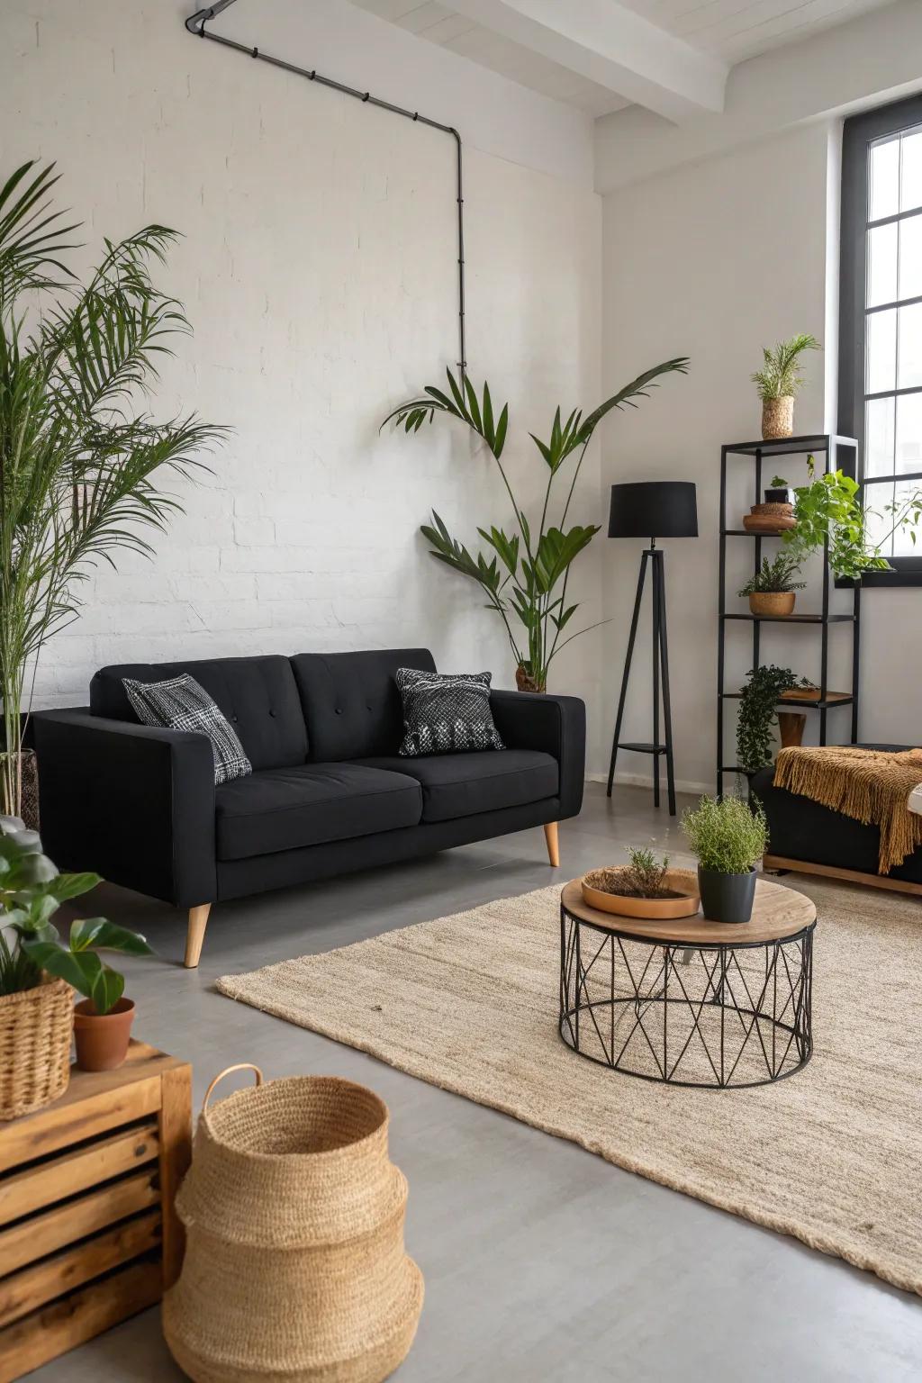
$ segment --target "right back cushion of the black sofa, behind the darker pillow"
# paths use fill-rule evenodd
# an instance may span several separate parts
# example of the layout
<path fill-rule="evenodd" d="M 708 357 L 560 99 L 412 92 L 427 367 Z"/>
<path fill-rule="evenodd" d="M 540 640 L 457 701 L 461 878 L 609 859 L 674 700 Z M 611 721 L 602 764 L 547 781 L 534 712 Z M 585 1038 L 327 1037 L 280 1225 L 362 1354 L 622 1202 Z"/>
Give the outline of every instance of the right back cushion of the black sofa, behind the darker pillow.
<path fill-rule="evenodd" d="M 292 667 L 315 763 L 397 754 L 404 708 L 394 675 L 398 668 L 435 671 L 429 649 L 299 653 Z"/>

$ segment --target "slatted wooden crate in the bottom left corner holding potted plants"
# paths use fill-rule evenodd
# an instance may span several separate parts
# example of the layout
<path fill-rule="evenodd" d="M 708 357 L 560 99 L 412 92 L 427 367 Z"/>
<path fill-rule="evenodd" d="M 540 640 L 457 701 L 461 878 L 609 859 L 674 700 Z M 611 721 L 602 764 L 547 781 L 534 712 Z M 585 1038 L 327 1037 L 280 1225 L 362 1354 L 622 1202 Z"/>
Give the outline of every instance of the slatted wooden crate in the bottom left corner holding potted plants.
<path fill-rule="evenodd" d="M 0 1124 L 0 1383 L 159 1301 L 182 1261 L 173 1199 L 192 1068 L 133 1041 L 61 1099 Z"/>

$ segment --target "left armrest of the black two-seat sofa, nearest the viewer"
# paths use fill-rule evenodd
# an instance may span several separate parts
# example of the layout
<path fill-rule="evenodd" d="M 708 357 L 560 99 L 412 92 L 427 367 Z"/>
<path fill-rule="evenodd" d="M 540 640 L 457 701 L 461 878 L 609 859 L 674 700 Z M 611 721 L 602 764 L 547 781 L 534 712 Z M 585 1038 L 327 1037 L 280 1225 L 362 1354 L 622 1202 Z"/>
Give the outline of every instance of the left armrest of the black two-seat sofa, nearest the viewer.
<path fill-rule="evenodd" d="M 37 711 L 46 852 L 64 869 L 178 907 L 214 902 L 214 757 L 206 736 Z"/>

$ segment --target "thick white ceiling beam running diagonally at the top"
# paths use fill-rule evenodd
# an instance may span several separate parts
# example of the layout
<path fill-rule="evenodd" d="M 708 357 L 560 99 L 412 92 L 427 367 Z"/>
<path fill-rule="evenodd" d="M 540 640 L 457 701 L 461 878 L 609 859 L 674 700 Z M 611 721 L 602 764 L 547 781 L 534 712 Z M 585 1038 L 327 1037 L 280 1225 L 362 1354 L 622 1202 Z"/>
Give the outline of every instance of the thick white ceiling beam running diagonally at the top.
<path fill-rule="evenodd" d="M 451 7 L 675 123 L 723 111 L 727 65 L 618 0 L 451 0 Z"/>

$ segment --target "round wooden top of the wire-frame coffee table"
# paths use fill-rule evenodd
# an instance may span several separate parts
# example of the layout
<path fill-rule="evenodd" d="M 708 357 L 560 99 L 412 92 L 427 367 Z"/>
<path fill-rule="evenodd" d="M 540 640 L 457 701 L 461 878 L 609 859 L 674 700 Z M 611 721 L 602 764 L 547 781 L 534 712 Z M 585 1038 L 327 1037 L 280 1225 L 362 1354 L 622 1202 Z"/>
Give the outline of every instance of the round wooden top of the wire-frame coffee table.
<path fill-rule="evenodd" d="M 581 882 L 578 878 L 571 880 L 560 895 L 560 902 L 571 917 L 640 940 L 684 942 L 688 946 L 758 945 L 796 936 L 817 920 L 811 899 L 785 884 L 771 884 L 767 878 L 756 880 L 756 900 L 748 922 L 709 922 L 701 914 L 651 922 L 640 917 L 615 917 L 614 913 L 589 907 L 583 902 Z"/>

